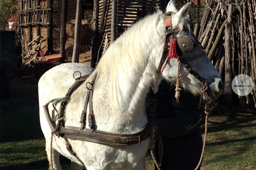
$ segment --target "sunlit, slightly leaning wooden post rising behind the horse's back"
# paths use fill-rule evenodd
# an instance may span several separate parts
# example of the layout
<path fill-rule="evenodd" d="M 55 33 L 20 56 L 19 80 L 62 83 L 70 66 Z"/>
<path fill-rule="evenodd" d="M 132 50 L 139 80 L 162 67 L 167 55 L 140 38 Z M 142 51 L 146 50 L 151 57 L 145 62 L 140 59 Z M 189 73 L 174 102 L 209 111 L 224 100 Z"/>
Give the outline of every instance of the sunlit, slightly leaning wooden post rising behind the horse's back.
<path fill-rule="evenodd" d="M 72 62 L 79 62 L 80 53 L 80 35 L 81 35 L 81 22 L 82 22 L 82 0 L 76 2 L 76 21 L 75 21 L 75 37 Z"/>

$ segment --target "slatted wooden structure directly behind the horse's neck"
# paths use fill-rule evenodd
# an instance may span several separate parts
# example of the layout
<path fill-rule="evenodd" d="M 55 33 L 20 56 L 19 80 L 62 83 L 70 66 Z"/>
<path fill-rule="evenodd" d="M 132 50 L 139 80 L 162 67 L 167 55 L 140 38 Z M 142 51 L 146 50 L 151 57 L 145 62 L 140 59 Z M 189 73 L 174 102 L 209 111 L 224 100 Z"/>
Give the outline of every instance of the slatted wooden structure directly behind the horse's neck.
<path fill-rule="evenodd" d="M 115 41 L 134 22 L 154 12 L 154 7 L 159 7 L 160 10 L 164 9 L 166 3 L 166 0 L 94 1 L 92 29 L 97 32 L 98 36 L 93 36 L 93 46 L 96 46 L 97 50 L 92 50 L 91 66 L 95 67 L 96 62 L 104 53 L 103 51 L 106 50 L 106 45 Z"/>

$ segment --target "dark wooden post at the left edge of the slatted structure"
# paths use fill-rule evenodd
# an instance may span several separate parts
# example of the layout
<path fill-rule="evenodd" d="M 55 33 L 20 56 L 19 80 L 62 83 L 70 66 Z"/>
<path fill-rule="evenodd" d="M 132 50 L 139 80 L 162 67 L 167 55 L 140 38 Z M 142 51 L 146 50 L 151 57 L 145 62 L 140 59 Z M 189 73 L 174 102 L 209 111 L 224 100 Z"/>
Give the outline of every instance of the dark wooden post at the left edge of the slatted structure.
<path fill-rule="evenodd" d="M 91 67 L 95 68 L 98 55 L 98 33 L 99 33 L 99 1 L 93 1 L 93 19 L 92 19 L 92 59 Z"/>

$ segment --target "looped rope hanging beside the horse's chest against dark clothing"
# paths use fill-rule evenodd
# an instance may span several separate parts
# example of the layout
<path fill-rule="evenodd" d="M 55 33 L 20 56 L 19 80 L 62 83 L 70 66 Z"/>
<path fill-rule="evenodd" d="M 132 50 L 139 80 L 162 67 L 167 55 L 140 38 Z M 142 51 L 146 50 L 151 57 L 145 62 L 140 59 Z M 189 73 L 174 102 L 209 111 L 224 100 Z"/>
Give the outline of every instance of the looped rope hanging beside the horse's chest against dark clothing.
<path fill-rule="evenodd" d="M 156 126 L 157 125 L 152 125 L 150 128 L 150 153 L 151 153 L 152 159 L 155 162 L 157 169 L 161 170 L 160 166 L 163 158 L 163 143 L 162 143 L 162 137 L 159 136 L 158 137 L 159 163 L 158 163 L 155 156 L 155 142 L 157 141 L 157 137 L 155 136 Z"/>

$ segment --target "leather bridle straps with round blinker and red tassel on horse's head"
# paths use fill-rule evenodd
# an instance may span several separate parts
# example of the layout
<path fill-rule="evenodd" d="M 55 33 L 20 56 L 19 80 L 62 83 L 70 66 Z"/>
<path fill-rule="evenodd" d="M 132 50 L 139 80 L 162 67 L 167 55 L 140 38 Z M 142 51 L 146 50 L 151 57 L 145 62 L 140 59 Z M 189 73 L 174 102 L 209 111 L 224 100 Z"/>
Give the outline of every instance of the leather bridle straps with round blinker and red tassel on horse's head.
<path fill-rule="evenodd" d="M 191 35 L 194 37 L 196 42 L 192 42 L 191 39 L 183 33 L 179 38 L 176 38 L 176 33 L 179 31 L 178 28 L 172 28 L 172 12 L 167 12 L 163 15 L 164 23 L 165 23 L 165 43 L 163 46 L 163 52 L 161 56 L 161 60 L 158 65 L 157 72 L 160 74 L 163 72 L 168 60 L 170 58 L 177 58 L 183 63 L 184 67 L 187 71 L 192 74 L 196 79 L 198 79 L 201 83 L 205 83 L 206 79 L 202 78 L 190 65 L 187 61 L 193 61 L 205 56 L 205 52 L 193 56 L 193 57 L 184 57 L 184 55 L 191 53 L 194 50 L 194 45 L 200 44 L 197 41 L 194 34 L 191 32 Z M 175 38 L 174 38 L 175 37 Z M 173 50 L 175 51 L 173 53 Z M 173 54 L 173 55 L 172 55 Z M 170 56 L 172 55 L 172 56 Z"/>

